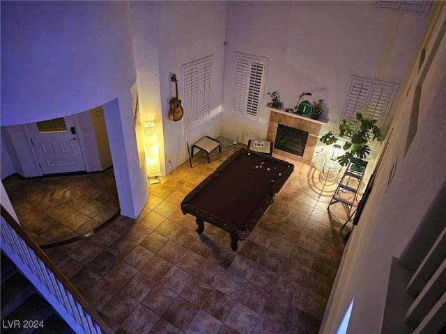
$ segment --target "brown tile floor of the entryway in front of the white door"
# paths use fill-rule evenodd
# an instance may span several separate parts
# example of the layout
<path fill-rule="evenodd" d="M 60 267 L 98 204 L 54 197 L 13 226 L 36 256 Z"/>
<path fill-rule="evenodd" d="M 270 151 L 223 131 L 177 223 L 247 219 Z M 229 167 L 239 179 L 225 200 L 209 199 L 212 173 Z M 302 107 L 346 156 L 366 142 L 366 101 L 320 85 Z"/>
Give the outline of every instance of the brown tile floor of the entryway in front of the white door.
<path fill-rule="evenodd" d="M 113 168 L 2 181 L 24 230 L 40 246 L 79 237 L 119 212 Z"/>

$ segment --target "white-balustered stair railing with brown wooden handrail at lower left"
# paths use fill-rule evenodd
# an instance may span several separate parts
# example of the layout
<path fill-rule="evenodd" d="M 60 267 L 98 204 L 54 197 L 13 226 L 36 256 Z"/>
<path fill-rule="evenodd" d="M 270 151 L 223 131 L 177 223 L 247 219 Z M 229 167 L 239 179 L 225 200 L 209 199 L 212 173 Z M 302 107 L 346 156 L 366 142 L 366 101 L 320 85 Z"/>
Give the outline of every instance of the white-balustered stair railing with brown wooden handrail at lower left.
<path fill-rule="evenodd" d="M 75 333 L 113 334 L 63 273 L 1 205 L 1 249 Z"/>

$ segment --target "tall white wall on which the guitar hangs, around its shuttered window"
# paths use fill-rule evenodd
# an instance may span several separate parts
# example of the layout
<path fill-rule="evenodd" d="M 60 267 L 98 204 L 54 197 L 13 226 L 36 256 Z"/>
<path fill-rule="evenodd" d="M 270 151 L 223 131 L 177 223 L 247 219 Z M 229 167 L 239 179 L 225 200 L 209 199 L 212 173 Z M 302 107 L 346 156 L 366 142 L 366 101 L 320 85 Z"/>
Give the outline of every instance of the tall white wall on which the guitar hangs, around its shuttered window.
<path fill-rule="evenodd" d="M 150 5 L 137 2 L 132 3 L 132 6 L 134 5 L 139 5 L 138 8 L 141 10 L 154 10 L 154 13 L 148 17 L 155 21 L 152 29 L 155 30 L 156 41 L 151 39 L 150 44 L 157 45 L 161 103 L 153 104 L 157 108 L 155 111 L 141 111 L 141 118 L 146 117 L 146 112 L 153 112 L 157 125 L 162 129 L 163 141 L 160 143 L 164 142 L 164 156 L 161 159 L 161 168 L 162 173 L 168 174 L 171 172 L 171 167 L 167 164 L 169 159 L 173 168 L 188 159 L 182 121 L 174 122 L 168 118 L 169 100 L 175 96 L 175 85 L 171 82 L 171 74 L 177 74 L 178 94 L 182 100 L 181 65 L 213 54 L 210 109 L 220 111 L 227 3 L 226 1 L 155 1 Z M 141 32 L 134 31 L 134 33 Z M 150 35 L 151 32 L 148 34 Z M 151 54 L 153 51 L 151 45 L 144 50 L 146 54 Z M 141 44 L 135 42 L 135 49 L 139 50 L 139 47 Z M 137 54 L 137 59 L 138 57 L 139 54 Z M 148 66 L 150 65 L 146 65 Z M 138 69 L 141 70 L 141 67 Z M 145 100 L 149 94 L 150 90 L 141 91 L 141 95 L 144 95 L 141 99 Z M 187 131 L 190 145 L 201 136 L 217 136 L 217 134 L 220 134 L 220 114 Z"/>

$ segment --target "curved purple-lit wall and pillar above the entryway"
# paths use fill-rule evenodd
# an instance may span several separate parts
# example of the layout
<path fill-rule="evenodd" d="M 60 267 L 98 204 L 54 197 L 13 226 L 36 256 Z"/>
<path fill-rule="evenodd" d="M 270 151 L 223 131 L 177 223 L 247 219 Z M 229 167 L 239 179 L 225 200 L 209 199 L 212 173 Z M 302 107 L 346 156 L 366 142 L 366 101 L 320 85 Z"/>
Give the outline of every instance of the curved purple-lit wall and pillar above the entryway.
<path fill-rule="evenodd" d="M 105 118 L 121 211 L 136 218 L 148 185 L 130 98 L 136 70 L 128 3 L 2 1 L 1 50 L 1 125 L 68 116 L 119 99 Z"/>

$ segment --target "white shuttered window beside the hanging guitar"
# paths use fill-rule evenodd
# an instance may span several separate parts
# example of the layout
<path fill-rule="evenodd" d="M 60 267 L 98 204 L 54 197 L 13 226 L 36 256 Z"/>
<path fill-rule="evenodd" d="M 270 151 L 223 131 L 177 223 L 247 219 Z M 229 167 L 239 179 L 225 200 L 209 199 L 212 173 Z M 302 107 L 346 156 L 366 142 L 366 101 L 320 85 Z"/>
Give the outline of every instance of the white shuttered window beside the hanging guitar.
<path fill-rule="evenodd" d="M 212 55 L 183 65 L 183 102 L 186 127 L 191 127 L 210 114 L 210 74 Z"/>

